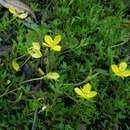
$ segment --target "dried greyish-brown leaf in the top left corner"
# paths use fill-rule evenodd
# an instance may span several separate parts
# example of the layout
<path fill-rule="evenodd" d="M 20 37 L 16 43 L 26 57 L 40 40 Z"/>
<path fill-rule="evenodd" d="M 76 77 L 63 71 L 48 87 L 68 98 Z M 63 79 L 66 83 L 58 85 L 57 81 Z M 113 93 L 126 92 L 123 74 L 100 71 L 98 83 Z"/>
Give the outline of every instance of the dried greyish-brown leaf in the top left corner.
<path fill-rule="evenodd" d="M 0 4 L 5 8 L 13 6 L 18 13 L 27 12 L 36 20 L 36 16 L 31 8 L 19 0 L 0 0 Z"/>

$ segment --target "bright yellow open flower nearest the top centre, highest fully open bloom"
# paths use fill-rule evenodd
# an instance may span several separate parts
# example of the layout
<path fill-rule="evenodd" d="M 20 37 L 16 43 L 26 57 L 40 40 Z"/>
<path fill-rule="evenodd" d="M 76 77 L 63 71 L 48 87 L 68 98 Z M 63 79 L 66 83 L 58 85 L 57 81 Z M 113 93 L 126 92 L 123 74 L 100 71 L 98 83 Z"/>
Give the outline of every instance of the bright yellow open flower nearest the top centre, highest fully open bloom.
<path fill-rule="evenodd" d="M 44 38 L 45 42 L 43 42 L 43 45 L 46 47 L 50 47 L 54 51 L 61 51 L 61 46 L 58 45 L 61 41 L 61 35 L 55 36 L 54 40 L 49 35 L 45 35 Z"/>

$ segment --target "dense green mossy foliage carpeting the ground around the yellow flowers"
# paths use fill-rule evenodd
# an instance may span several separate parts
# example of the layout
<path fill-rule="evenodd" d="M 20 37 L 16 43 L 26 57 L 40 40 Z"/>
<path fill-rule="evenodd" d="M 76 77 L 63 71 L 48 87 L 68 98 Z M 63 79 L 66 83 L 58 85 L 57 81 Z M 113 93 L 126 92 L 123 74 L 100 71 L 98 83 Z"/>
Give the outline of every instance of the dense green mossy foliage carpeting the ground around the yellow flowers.
<path fill-rule="evenodd" d="M 129 78 L 121 79 L 112 63 L 130 64 L 129 24 L 125 5 L 118 0 L 27 0 L 38 23 L 14 19 L 0 8 L 0 129 L 90 130 L 130 129 Z M 32 42 L 42 45 L 46 34 L 60 34 L 61 52 L 46 51 L 44 58 L 28 58 Z M 1 52 L 0 52 L 1 53 Z M 21 57 L 23 56 L 23 57 Z M 22 65 L 12 68 L 12 60 Z M 36 80 L 38 68 L 56 71 L 58 81 Z M 97 91 L 84 100 L 74 92 L 86 82 Z M 81 85 L 80 85 L 81 84 Z"/>

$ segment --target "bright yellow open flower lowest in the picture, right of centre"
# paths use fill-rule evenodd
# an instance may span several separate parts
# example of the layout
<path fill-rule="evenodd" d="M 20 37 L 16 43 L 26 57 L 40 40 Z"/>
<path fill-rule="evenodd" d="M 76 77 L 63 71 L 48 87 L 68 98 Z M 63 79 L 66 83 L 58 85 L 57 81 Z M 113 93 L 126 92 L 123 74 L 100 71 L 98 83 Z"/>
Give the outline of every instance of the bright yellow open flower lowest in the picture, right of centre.
<path fill-rule="evenodd" d="M 74 90 L 75 90 L 75 92 L 76 92 L 79 96 L 81 96 L 81 97 L 83 97 L 83 98 L 89 100 L 89 99 L 91 99 L 92 97 L 94 97 L 94 96 L 97 95 L 97 92 L 96 92 L 96 91 L 91 91 L 91 87 L 92 87 L 91 84 L 87 83 L 87 84 L 85 84 L 85 85 L 83 86 L 83 88 L 80 89 L 80 88 L 76 87 Z"/>

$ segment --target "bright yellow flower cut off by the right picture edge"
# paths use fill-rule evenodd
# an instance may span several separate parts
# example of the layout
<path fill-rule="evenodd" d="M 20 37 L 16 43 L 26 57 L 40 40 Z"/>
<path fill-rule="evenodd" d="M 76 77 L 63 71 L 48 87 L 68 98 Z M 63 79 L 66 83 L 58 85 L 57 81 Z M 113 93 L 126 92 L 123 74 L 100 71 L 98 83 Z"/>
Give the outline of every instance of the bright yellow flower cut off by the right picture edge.
<path fill-rule="evenodd" d="M 121 62 L 119 66 L 113 64 L 111 65 L 112 71 L 115 73 L 115 75 L 120 77 L 128 77 L 130 76 L 130 70 L 127 70 L 127 63 Z"/>

